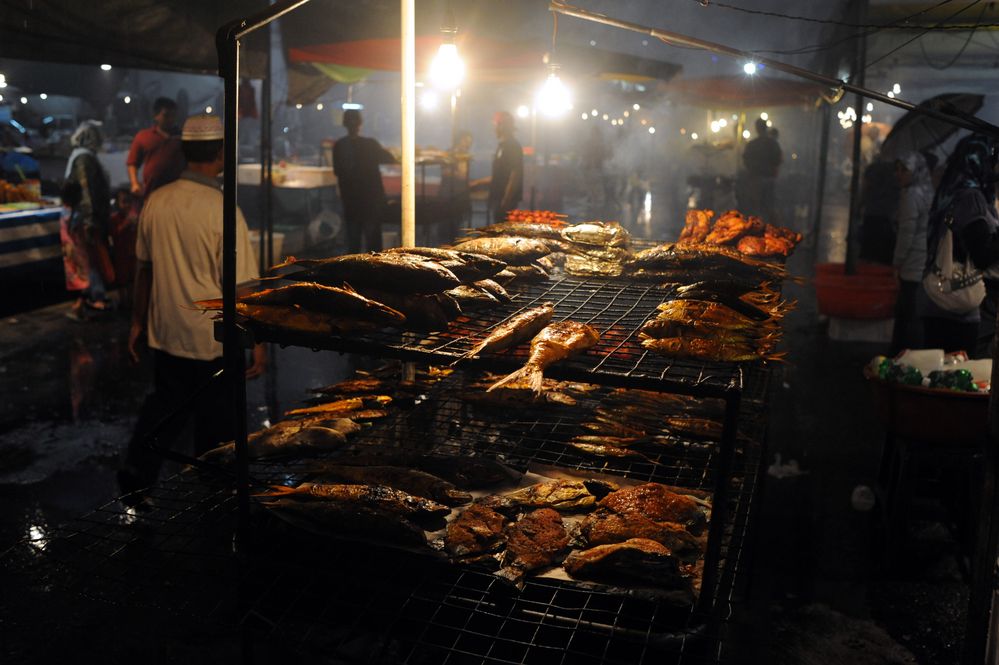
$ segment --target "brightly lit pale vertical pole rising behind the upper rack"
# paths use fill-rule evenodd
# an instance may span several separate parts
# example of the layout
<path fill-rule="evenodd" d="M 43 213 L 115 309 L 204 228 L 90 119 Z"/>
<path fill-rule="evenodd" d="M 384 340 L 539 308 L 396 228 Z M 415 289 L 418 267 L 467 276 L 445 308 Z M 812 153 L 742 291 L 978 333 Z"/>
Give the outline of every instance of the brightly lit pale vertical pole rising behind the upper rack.
<path fill-rule="evenodd" d="M 416 245 L 416 6 L 402 3 L 402 229 L 403 247 Z"/>

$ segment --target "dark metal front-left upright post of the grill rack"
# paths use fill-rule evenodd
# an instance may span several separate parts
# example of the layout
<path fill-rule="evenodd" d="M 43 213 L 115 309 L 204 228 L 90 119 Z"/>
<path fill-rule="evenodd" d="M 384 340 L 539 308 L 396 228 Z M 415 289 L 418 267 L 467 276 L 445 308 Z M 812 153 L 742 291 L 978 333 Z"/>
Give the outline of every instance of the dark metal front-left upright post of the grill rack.
<path fill-rule="evenodd" d="M 231 37 L 223 50 L 221 63 L 225 79 L 225 171 L 222 192 L 222 349 L 224 390 L 231 391 L 236 444 L 236 496 L 239 507 L 237 540 L 248 524 L 249 470 L 246 446 L 246 382 L 243 379 L 245 352 L 236 327 L 236 169 L 239 164 L 237 100 L 239 98 L 239 39 Z M 247 260 L 252 260 L 246 257 Z"/>

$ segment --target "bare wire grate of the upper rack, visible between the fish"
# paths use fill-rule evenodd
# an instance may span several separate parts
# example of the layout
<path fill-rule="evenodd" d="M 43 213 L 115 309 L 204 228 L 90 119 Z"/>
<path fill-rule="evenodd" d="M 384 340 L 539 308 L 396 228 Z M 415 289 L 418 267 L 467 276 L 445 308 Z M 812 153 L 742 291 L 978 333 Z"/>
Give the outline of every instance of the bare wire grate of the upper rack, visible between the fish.
<path fill-rule="evenodd" d="M 600 332 L 600 342 L 587 353 L 549 368 L 549 376 L 710 397 L 741 390 L 746 365 L 668 358 L 642 347 L 639 329 L 672 293 L 652 284 L 566 277 L 526 285 L 517 291 L 513 303 L 471 311 L 443 332 L 380 331 L 356 337 L 319 337 L 252 325 L 251 337 L 257 342 L 445 364 L 465 356 L 510 316 L 550 302 L 555 306 L 555 320 L 588 323 Z M 509 370 L 523 364 L 525 355 L 520 348 L 466 362 L 468 366 Z"/>

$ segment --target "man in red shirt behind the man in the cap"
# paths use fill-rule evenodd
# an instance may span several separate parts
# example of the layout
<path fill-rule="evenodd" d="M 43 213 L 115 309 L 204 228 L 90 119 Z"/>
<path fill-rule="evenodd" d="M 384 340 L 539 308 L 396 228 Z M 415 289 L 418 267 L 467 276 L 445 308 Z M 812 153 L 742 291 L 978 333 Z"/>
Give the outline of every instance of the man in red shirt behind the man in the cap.
<path fill-rule="evenodd" d="M 176 124 L 176 102 L 167 97 L 153 102 L 153 126 L 135 135 L 126 161 L 132 193 L 137 197 L 148 197 L 158 187 L 179 178 L 184 170 L 184 153 L 176 135 Z"/>

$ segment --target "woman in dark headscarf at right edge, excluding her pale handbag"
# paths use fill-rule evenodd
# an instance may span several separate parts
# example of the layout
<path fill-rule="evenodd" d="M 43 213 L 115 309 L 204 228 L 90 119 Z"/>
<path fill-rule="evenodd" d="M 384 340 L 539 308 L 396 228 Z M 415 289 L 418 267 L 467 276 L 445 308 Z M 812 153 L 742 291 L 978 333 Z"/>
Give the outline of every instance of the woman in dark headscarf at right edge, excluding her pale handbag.
<path fill-rule="evenodd" d="M 999 304 L 999 217 L 995 209 L 996 140 L 981 134 L 961 139 L 947 159 L 947 167 L 930 208 L 927 227 L 927 269 L 937 244 L 953 219 L 954 258 L 969 256 L 985 272 L 985 300 L 969 312 L 954 314 L 930 301 L 920 291 L 925 343 L 945 351 L 965 350 L 972 358 L 992 357 L 996 306 Z"/>

